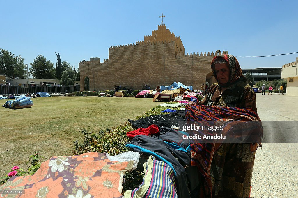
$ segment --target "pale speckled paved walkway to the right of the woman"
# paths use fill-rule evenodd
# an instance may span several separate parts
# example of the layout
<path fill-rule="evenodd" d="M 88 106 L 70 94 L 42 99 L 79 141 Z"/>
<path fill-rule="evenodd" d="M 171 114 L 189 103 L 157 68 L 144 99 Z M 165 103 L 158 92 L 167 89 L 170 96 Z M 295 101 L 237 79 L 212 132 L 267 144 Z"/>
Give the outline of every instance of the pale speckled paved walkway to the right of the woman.
<path fill-rule="evenodd" d="M 298 197 L 298 96 L 256 98 L 268 143 L 256 152 L 251 197 Z"/>

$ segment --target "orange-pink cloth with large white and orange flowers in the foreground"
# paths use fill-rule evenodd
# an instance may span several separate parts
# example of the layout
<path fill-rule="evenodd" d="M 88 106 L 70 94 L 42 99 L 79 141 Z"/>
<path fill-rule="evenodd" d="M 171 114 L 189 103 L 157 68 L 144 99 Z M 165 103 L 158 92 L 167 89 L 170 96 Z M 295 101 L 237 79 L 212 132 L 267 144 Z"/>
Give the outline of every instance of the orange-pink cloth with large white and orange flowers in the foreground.
<path fill-rule="evenodd" d="M 52 157 L 34 175 L 11 177 L 0 190 L 24 190 L 10 197 L 123 197 L 122 181 L 134 161 L 110 161 L 105 153 Z M 1 197 L 1 195 L 0 195 Z M 4 196 L 5 197 L 5 196 Z"/>

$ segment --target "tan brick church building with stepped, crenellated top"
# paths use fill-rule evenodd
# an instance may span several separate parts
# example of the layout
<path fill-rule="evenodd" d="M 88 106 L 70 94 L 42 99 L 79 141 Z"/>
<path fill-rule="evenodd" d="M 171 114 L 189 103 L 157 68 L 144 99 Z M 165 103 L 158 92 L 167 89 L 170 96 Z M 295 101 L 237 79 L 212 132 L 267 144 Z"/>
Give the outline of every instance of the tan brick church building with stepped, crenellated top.
<path fill-rule="evenodd" d="M 156 32 L 159 37 L 154 40 Z M 175 37 L 165 26 L 159 26 L 144 41 L 111 46 L 108 50 L 108 59 L 103 63 L 94 60 L 79 64 L 80 83 L 83 85 L 83 79 L 88 76 L 90 91 L 113 90 L 114 84 L 134 90 L 147 84 L 155 89 L 157 85 L 170 85 L 174 81 L 200 89 L 212 72 L 212 58 L 221 54 L 218 50 L 185 55 L 180 37 Z"/>

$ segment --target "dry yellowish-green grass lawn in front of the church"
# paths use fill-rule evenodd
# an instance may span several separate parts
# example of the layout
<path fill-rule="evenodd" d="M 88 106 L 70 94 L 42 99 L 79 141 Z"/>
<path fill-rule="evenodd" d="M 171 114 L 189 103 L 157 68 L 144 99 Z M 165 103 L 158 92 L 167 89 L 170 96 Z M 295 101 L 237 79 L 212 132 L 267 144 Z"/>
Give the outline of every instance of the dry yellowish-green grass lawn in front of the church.
<path fill-rule="evenodd" d="M 4 104 L 6 100 L 1 100 Z M 81 140 L 81 129 L 97 132 L 128 119 L 135 119 L 161 104 L 152 98 L 55 96 L 32 98 L 24 109 L 0 108 L 0 177 L 13 166 L 27 170 L 35 151 L 44 156 L 72 155 L 73 141 Z"/>

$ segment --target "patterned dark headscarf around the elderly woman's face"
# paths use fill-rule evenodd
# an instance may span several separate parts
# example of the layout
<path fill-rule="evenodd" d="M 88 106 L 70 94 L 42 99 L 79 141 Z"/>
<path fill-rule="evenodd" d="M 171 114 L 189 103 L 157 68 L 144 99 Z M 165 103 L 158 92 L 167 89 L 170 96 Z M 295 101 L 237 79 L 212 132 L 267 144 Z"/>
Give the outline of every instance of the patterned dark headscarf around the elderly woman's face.
<path fill-rule="evenodd" d="M 214 62 L 218 59 L 224 59 L 229 64 L 230 77 L 229 77 L 229 81 L 226 84 L 220 84 L 215 74 Z M 235 83 L 235 81 L 237 81 L 242 76 L 242 69 L 240 68 L 238 60 L 235 58 L 235 56 L 230 54 L 222 54 L 222 55 L 215 56 L 211 61 L 211 69 L 216 81 L 218 82 L 218 85 L 220 85 L 221 87 L 228 87 L 232 85 L 233 83 Z"/>

